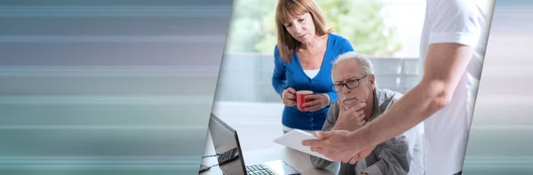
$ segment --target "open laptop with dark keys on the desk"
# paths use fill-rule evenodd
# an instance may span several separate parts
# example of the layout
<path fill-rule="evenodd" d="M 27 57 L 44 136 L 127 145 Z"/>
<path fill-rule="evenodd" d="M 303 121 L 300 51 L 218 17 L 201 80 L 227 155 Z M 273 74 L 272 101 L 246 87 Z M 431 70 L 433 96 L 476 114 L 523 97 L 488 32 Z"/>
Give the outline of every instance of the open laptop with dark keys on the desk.
<path fill-rule="evenodd" d="M 282 160 L 244 164 L 237 131 L 212 113 L 209 130 L 219 168 L 225 175 L 300 175 L 299 171 Z"/>

